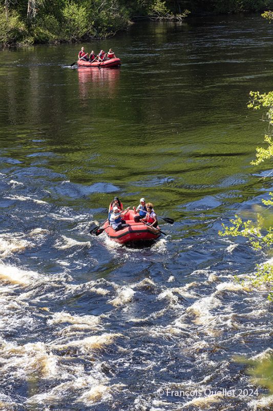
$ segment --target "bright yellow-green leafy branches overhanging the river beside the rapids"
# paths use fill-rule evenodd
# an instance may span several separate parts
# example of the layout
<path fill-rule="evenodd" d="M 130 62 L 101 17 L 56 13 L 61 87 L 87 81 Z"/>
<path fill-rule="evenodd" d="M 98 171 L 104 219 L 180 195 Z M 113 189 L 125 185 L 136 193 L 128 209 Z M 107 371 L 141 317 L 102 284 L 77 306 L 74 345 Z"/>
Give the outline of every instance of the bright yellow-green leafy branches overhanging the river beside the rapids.
<path fill-rule="evenodd" d="M 273 159 L 273 91 L 260 94 L 259 91 L 250 91 L 250 101 L 248 108 L 258 110 L 262 107 L 267 109 L 264 121 L 268 122 L 268 134 L 264 136 L 265 147 L 257 147 L 256 160 L 251 164 L 258 165 L 264 161 Z M 272 165 L 272 163 L 271 163 Z M 270 174 L 272 171 L 270 172 Z M 268 210 L 273 206 L 273 193 L 269 193 L 270 198 L 262 199 L 265 207 L 260 208 L 256 220 L 243 221 L 238 215 L 230 220 L 231 226 L 223 226 L 223 231 L 219 231 L 220 236 L 245 237 L 249 244 L 257 251 L 269 254 L 273 245 L 273 217 Z M 257 266 L 256 272 L 240 279 L 244 283 L 254 287 L 267 287 L 269 290 L 268 299 L 273 301 L 273 258 L 266 264 Z"/>

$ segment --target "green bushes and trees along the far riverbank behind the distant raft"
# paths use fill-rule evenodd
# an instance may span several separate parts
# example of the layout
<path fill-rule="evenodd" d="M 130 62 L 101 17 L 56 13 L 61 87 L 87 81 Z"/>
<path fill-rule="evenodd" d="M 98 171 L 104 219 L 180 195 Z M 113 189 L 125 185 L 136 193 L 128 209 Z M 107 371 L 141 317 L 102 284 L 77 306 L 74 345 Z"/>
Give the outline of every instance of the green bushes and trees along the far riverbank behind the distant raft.
<path fill-rule="evenodd" d="M 273 7 L 273 0 L 0 0 L 0 45 L 88 41 L 127 29 L 139 18 L 181 21 L 190 12 Z"/>

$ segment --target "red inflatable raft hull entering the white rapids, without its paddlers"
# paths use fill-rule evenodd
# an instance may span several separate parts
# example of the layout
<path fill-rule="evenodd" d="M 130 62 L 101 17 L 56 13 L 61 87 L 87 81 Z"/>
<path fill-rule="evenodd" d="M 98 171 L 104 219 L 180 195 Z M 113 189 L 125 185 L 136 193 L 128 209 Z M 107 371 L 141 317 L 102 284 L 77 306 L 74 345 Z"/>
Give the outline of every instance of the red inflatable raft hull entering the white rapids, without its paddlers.
<path fill-rule="evenodd" d="M 104 223 L 102 228 L 105 229 L 106 234 L 111 240 L 119 242 L 119 244 L 127 244 L 129 242 L 143 242 L 151 241 L 160 237 L 160 231 L 153 229 L 149 226 L 145 226 L 143 222 L 134 221 L 134 212 L 129 211 L 124 215 L 126 223 L 129 227 L 125 227 L 123 230 L 115 231 L 109 225 L 108 220 Z M 159 227 L 158 227 L 159 228 Z"/>

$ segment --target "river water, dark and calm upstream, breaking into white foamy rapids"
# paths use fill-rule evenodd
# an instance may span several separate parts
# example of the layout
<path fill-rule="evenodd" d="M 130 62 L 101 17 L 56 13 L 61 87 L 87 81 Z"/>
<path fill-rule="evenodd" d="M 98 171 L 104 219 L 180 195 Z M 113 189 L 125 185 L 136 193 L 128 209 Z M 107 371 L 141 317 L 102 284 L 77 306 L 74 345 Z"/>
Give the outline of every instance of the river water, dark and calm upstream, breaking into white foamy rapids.
<path fill-rule="evenodd" d="M 272 89 L 271 30 L 206 17 L 84 44 L 120 69 L 71 68 L 81 45 L 1 52 L 0 408 L 269 409 L 233 360 L 272 345 L 266 292 L 233 282 L 267 257 L 217 233 L 271 186 L 246 108 Z M 167 237 L 91 237 L 115 195 L 152 200 Z"/>

